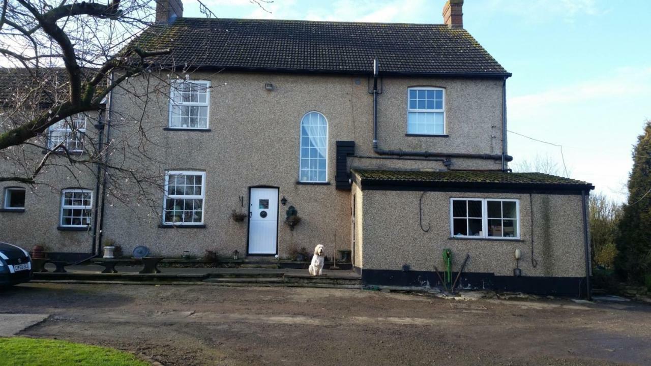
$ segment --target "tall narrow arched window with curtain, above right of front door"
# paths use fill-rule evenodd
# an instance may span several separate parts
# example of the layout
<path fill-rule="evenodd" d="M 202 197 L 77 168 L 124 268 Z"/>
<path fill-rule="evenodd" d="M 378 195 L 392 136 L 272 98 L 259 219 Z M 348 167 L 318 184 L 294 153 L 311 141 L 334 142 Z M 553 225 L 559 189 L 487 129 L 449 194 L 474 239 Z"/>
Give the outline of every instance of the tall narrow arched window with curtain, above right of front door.
<path fill-rule="evenodd" d="M 301 120 L 301 182 L 327 182 L 327 120 L 309 112 Z"/>

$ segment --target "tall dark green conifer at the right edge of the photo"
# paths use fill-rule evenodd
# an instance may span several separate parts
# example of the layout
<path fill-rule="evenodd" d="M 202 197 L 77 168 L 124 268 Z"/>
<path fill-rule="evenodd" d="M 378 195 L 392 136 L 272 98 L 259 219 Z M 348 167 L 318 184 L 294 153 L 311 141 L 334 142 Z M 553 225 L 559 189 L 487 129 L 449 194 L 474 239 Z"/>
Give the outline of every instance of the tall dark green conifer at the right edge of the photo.
<path fill-rule="evenodd" d="M 651 272 L 651 120 L 633 148 L 633 169 L 628 178 L 628 203 L 624 205 L 616 238 L 618 275 L 642 283 Z"/>

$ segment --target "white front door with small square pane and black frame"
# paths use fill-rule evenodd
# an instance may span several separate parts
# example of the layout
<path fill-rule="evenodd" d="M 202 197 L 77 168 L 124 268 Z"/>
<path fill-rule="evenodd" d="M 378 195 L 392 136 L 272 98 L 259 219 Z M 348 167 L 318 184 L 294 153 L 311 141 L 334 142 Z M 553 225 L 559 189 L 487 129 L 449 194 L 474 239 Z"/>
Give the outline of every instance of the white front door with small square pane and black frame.
<path fill-rule="evenodd" d="M 278 188 L 251 188 L 249 193 L 249 254 L 276 254 Z"/>

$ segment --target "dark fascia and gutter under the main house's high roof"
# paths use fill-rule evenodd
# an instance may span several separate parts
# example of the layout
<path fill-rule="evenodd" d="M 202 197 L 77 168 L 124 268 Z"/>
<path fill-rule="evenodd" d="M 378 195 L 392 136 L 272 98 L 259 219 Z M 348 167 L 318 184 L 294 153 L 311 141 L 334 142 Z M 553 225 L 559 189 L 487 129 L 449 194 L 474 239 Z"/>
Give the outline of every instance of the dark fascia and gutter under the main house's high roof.
<path fill-rule="evenodd" d="M 161 64 L 161 67 L 172 70 L 181 68 L 171 64 Z M 279 74 L 322 74 L 322 75 L 363 75 L 372 76 L 372 70 L 322 70 L 322 69 L 303 69 L 303 68 L 271 68 L 271 67 L 245 67 L 245 66 L 219 66 L 219 65 L 195 65 L 183 66 L 184 70 L 196 71 L 238 71 L 238 72 L 272 72 Z M 396 72 L 381 71 L 380 76 L 411 76 L 411 77 L 469 77 L 469 78 L 486 78 L 486 79 L 506 79 L 513 74 L 510 72 Z"/>

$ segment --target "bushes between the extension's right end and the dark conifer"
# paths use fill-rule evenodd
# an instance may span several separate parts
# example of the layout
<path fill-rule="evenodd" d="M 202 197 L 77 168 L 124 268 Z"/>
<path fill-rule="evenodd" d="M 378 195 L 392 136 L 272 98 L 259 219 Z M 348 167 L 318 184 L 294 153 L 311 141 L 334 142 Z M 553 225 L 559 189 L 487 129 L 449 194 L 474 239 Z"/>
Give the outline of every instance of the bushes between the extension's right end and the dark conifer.
<path fill-rule="evenodd" d="M 590 195 L 590 247 L 592 266 L 613 268 L 617 248 L 618 224 L 622 217 L 622 206 L 603 194 Z"/>

